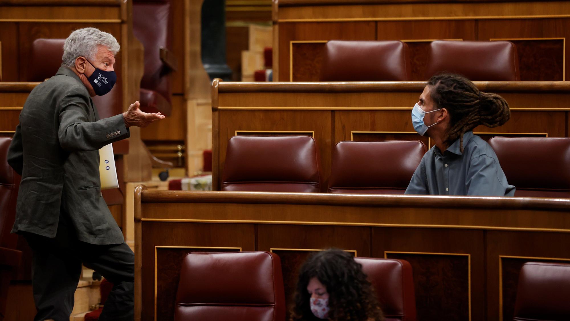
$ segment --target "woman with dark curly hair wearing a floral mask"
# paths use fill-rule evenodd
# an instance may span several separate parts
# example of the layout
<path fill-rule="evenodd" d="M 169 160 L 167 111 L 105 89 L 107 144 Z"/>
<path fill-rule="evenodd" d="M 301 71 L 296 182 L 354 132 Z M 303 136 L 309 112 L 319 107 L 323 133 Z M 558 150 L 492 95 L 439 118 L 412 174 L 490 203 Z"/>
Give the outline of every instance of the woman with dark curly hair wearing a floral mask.
<path fill-rule="evenodd" d="M 378 299 L 352 255 L 342 250 L 319 251 L 299 271 L 291 321 L 384 320 Z"/>

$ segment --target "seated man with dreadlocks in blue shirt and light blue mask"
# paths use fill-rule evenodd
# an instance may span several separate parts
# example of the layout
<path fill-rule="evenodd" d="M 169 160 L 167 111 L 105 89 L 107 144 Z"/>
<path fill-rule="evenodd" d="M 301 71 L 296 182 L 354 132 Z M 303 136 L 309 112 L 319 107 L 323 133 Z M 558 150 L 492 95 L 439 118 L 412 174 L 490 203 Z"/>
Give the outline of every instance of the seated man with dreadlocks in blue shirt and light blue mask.
<path fill-rule="evenodd" d="M 512 196 L 491 146 L 473 135 L 479 125 L 501 126 L 510 118 L 507 102 L 482 93 L 453 74 L 429 79 L 412 110 L 412 124 L 435 146 L 422 158 L 405 194 Z"/>

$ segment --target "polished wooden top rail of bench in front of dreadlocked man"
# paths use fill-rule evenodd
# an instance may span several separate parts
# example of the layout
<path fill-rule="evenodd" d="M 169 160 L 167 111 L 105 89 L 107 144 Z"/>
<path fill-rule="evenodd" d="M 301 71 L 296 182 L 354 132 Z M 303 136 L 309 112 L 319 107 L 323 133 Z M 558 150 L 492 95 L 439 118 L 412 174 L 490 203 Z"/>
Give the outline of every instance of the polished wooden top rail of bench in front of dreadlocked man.
<path fill-rule="evenodd" d="M 500 208 L 568 211 L 570 199 L 490 196 L 369 195 L 290 192 L 149 191 L 142 203 L 255 203 L 363 207 Z M 570 215 L 570 214 L 569 214 Z"/>

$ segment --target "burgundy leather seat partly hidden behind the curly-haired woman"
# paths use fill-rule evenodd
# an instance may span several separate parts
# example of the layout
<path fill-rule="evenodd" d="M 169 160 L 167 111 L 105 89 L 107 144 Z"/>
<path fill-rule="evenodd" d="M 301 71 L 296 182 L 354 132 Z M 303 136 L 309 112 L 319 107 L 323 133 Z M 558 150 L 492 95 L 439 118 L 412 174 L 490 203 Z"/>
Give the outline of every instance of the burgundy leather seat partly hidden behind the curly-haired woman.
<path fill-rule="evenodd" d="M 386 321 L 416 320 L 412 266 L 406 260 L 355 258 L 376 290 Z"/>

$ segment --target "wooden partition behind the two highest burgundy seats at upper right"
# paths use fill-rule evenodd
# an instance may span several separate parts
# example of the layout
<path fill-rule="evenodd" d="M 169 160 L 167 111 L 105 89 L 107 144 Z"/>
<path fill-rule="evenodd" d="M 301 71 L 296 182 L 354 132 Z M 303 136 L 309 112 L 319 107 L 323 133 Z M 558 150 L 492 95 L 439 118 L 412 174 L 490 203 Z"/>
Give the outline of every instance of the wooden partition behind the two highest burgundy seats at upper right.
<path fill-rule="evenodd" d="M 565 1 L 282 0 L 274 4 L 273 21 L 275 81 L 318 81 L 325 42 L 367 39 L 344 32 L 355 23 L 375 26 L 370 40 L 407 42 L 412 80 L 429 78 L 426 55 L 434 39 L 513 41 L 522 81 L 564 81 L 570 68 Z"/>

